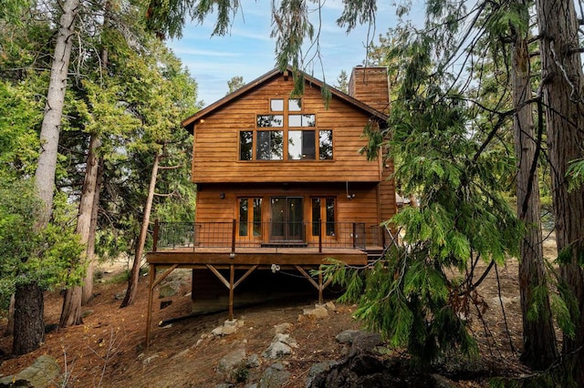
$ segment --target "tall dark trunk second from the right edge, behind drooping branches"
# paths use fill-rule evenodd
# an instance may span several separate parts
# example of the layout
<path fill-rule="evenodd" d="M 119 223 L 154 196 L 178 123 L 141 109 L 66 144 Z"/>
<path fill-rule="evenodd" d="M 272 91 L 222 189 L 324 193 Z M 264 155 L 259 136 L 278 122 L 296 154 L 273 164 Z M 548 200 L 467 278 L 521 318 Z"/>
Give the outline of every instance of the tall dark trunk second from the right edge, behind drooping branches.
<path fill-rule="evenodd" d="M 517 0 L 524 8 L 528 22 L 527 5 Z M 549 298 L 539 296 L 535 300 L 537 288 L 548 289 L 546 266 L 543 256 L 539 209 L 539 183 L 537 180 L 537 148 L 541 134 L 536 136 L 533 123 L 530 85 L 529 51 L 527 36 L 515 31 L 512 50 L 512 87 L 514 117 L 515 152 L 517 158 L 517 216 L 527 226 L 526 235 L 521 240 L 521 260 L 519 260 L 519 293 L 523 319 L 523 352 L 521 361 L 536 370 L 547 369 L 558 358 L 556 335 L 551 319 Z M 543 123 L 540 123 L 543 125 Z M 537 305 L 537 317 L 530 318 L 528 311 Z"/>

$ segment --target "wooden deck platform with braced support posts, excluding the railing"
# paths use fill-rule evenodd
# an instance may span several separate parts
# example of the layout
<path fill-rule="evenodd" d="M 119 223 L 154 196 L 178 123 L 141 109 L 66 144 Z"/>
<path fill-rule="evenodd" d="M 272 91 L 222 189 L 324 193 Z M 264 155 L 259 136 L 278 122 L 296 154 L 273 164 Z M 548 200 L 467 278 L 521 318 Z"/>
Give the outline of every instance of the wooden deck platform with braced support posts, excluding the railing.
<path fill-rule="evenodd" d="M 370 247 L 370 250 L 381 247 Z M 197 248 L 184 247 L 166 250 L 157 250 L 146 254 L 149 264 L 148 284 L 148 311 L 146 315 L 146 347 L 150 344 L 152 319 L 152 303 L 154 289 L 172 271 L 178 268 L 207 269 L 221 281 L 229 291 L 229 319 L 233 320 L 235 288 L 255 270 L 271 270 L 272 265 L 280 269 L 295 269 L 303 275 L 317 290 L 318 301 L 322 302 L 322 291 L 328 287 L 330 281 L 323 281 L 322 274 L 318 274 L 318 281 L 309 270 L 318 269 L 328 264 L 328 259 L 344 262 L 351 266 L 367 264 L 367 251 L 347 248 Z M 159 270 L 164 270 L 159 275 Z M 219 270 L 229 270 L 229 279 L 226 279 Z M 235 279 L 235 270 L 244 270 L 245 273 Z"/>

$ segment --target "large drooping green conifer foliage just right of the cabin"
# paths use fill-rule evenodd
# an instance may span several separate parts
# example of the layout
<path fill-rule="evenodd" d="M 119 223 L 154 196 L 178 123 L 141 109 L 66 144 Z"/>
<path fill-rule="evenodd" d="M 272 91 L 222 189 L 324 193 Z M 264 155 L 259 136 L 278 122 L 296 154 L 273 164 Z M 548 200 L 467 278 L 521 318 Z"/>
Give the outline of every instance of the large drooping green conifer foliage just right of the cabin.
<path fill-rule="evenodd" d="M 472 261 L 504 263 L 518 254 L 525 230 L 502 194 L 515 171 L 513 158 L 484 143 L 474 112 L 452 85 L 454 75 L 444 71 L 456 49 L 455 18 L 464 7 L 434 1 L 427 15 L 422 32 L 414 35 L 406 25 L 387 37 L 393 45 L 383 60 L 400 87 L 393 92 L 387 131 L 365 128 L 369 144 L 361 150 L 375 158 L 380 147 L 389 149 L 394 179 L 420 206 L 386 222 L 402 231 L 403 242 L 373 266 L 326 271 L 347 285 L 343 299 L 359 303 L 360 320 L 392 346 L 406 347 L 420 364 L 450 352 L 476 354 L 466 321 L 470 303 L 481 308 L 469 281 Z M 436 15 L 445 24 L 434 23 Z"/>

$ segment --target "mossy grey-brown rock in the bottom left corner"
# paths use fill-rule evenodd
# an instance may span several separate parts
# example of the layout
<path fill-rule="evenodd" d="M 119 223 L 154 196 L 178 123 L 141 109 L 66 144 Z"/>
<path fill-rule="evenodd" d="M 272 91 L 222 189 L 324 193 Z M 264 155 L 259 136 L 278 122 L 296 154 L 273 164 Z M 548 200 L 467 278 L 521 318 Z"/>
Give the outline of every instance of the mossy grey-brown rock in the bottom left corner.
<path fill-rule="evenodd" d="M 61 368 L 55 358 L 43 354 L 32 365 L 13 376 L 0 379 L 0 387 L 45 388 L 57 381 Z"/>

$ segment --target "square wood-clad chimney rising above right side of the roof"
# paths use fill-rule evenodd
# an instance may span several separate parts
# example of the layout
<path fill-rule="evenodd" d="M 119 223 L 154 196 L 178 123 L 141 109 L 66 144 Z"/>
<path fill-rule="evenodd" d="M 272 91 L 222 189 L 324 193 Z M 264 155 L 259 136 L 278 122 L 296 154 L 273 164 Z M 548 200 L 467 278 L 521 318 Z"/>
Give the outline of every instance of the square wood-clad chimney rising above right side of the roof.
<path fill-rule="evenodd" d="M 390 112 L 387 67 L 353 67 L 349 79 L 349 96 L 387 115 Z"/>

